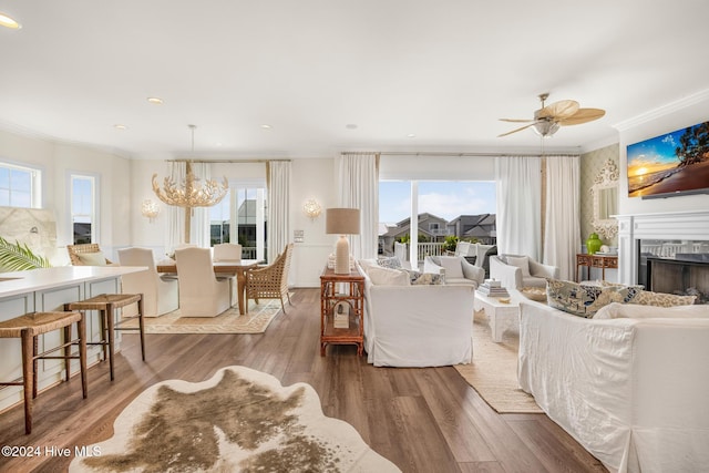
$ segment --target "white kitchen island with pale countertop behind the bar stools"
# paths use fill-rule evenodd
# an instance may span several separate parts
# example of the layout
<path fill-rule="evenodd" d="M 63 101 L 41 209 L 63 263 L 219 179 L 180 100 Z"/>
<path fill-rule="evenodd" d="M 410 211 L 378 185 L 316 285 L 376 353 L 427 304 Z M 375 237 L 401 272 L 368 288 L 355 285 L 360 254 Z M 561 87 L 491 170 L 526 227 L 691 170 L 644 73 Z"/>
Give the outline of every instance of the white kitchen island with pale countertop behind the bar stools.
<path fill-rule="evenodd" d="M 121 276 L 144 271 L 144 266 L 61 266 L 31 269 L 28 271 L 0 273 L 0 320 L 29 313 L 63 310 L 64 304 L 88 299 L 100 294 L 120 294 Z M 61 331 L 39 337 L 39 350 L 60 345 Z M 101 340 L 99 313 L 86 313 L 89 341 Z M 120 337 L 116 338 L 120 351 Z M 92 347 L 88 362 L 100 359 L 101 348 Z M 72 364 L 72 373 L 79 372 L 79 362 Z M 38 363 L 38 388 L 47 389 L 62 380 L 63 360 L 40 360 Z M 10 381 L 22 374 L 20 339 L 0 339 L 0 379 Z M 0 390 L 0 411 L 22 402 L 21 387 Z"/>

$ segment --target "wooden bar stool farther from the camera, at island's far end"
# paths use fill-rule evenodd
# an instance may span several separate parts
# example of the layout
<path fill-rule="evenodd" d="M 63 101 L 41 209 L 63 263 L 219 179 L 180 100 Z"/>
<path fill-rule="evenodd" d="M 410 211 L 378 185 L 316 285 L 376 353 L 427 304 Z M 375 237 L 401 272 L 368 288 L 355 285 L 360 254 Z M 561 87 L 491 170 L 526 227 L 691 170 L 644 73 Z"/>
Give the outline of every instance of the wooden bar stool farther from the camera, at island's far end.
<path fill-rule="evenodd" d="M 115 309 L 120 309 L 131 304 L 137 302 L 137 315 L 126 317 L 119 322 L 115 321 Z M 111 381 L 113 381 L 113 347 L 116 330 L 137 330 L 141 333 L 141 353 L 145 361 L 145 331 L 143 326 L 143 295 L 142 294 L 102 294 L 90 299 L 80 300 L 78 302 L 68 302 L 64 305 L 65 310 L 97 310 L 101 320 L 101 341 L 90 341 L 86 345 L 103 346 L 103 359 L 109 358 L 109 367 L 111 370 Z M 121 327 L 122 323 L 136 318 L 138 327 Z"/>

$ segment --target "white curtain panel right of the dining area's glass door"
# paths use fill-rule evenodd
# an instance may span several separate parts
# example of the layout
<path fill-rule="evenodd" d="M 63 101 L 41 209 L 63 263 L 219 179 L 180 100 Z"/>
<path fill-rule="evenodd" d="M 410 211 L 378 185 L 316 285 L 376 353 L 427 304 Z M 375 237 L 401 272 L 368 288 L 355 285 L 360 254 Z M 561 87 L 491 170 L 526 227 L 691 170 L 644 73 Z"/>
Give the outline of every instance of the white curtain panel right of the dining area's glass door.
<path fill-rule="evenodd" d="M 288 203 L 290 200 L 290 162 L 269 161 L 266 163 L 268 186 L 268 260 L 273 261 L 286 249 L 290 223 Z"/>

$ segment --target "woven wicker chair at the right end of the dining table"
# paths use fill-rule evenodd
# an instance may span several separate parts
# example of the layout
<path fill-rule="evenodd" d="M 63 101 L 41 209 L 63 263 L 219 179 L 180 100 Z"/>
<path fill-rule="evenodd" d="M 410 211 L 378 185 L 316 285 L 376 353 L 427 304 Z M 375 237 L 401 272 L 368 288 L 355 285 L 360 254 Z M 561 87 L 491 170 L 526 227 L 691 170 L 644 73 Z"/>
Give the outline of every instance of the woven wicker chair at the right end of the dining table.
<path fill-rule="evenodd" d="M 248 312 L 248 300 L 254 299 L 258 304 L 259 299 L 279 299 L 280 308 L 286 313 L 284 297 L 290 301 L 288 294 L 288 270 L 290 269 L 290 257 L 292 255 L 292 244 L 288 244 L 284 253 L 278 255 L 276 260 L 268 266 L 251 268 L 246 271 L 246 308 Z"/>

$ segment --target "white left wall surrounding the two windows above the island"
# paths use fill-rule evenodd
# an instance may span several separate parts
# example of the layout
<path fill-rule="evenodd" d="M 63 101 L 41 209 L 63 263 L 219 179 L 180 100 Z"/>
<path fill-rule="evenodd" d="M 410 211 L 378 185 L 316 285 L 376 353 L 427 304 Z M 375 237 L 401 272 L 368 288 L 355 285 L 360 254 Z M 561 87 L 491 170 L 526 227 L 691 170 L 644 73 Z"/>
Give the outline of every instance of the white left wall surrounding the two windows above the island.
<path fill-rule="evenodd" d="M 0 131 L 0 160 L 42 169 L 42 206 L 54 212 L 58 255 L 72 241 L 69 215 L 69 173 L 91 173 L 100 181 L 100 240 L 109 258 L 113 248 L 131 240 L 131 164 L 119 155 L 88 146 L 59 144 Z M 69 257 L 64 260 L 69 261 Z"/>

